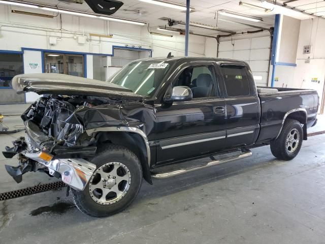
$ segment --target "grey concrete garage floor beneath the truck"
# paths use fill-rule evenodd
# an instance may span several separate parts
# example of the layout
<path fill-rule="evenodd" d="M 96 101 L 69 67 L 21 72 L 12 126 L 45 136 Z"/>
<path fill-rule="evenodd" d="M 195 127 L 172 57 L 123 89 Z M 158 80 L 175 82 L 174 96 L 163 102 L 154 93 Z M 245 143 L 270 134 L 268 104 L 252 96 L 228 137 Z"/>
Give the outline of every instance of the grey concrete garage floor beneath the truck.
<path fill-rule="evenodd" d="M 0 148 L 19 135 L 0 135 Z M 65 189 L 2 201 L 0 243 L 324 243 L 324 148 L 318 135 L 289 162 L 265 146 L 247 159 L 144 181 L 131 206 L 103 219 L 82 214 Z M 16 160 L 0 156 L 0 192 L 56 181 L 27 173 L 18 185 L 5 164 Z"/>

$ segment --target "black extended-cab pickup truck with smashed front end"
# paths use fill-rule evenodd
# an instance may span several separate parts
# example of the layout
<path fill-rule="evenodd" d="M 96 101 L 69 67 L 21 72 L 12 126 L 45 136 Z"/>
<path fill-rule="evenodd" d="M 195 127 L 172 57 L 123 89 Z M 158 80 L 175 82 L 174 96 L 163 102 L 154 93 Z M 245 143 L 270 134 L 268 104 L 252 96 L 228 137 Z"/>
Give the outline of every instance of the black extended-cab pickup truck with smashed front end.
<path fill-rule="evenodd" d="M 107 82 L 60 74 L 12 82 L 44 96 L 21 116 L 26 136 L 4 151 L 19 160 L 8 173 L 17 182 L 28 171 L 62 179 L 94 217 L 124 209 L 143 178 L 152 184 L 269 144 L 276 158 L 295 158 L 319 104 L 314 90 L 256 87 L 247 63 L 220 58 L 140 59 Z M 200 158 L 209 161 L 187 167 Z"/>

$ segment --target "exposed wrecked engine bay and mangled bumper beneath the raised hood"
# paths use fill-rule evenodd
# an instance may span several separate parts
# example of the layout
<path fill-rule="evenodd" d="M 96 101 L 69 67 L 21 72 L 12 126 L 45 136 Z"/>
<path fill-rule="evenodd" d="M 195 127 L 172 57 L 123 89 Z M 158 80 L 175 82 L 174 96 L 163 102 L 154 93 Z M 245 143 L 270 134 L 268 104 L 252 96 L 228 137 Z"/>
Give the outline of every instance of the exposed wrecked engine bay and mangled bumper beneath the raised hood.
<path fill-rule="evenodd" d="M 18 166 L 6 165 L 17 183 L 24 173 L 41 171 L 76 190 L 84 189 L 96 168 L 87 160 L 94 156 L 96 146 L 74 117 L 74 102 L 71 98 L 43 97 L 22 114 L 26 137 L 18 138 L 3 152 L 6 158 L 17 155 Z"/>

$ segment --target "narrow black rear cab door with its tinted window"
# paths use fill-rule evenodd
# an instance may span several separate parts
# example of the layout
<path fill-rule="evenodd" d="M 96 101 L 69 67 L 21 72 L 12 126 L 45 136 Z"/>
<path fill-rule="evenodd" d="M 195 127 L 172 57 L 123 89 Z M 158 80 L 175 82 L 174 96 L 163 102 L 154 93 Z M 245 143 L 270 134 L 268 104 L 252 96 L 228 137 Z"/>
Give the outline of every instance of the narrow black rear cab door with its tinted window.
<path fill-rule="evenodd" d="M 261 113 L 254 83 L 248 78 L 252 81 L 252 75 L 244 64 L 229 62 L 221 64 L 220 71 L 225 88 L 226 146 L 250 145 L 258 135 Z"/>

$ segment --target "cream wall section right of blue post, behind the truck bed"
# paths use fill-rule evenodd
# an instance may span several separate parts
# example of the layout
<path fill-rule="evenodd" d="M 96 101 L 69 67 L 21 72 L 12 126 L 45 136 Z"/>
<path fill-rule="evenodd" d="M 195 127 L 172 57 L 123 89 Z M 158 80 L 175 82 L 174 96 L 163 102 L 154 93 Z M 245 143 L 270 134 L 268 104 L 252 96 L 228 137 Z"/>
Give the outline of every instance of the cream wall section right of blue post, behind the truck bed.
<path fill-rule="evenodd" d="M 325 83 L 325 20 L 297 21 L 284 17 L 283 22 L 278 62 L 296 63 L 297 67 L 276 66 L 275 77 L 279 81 L 275 86 L 315 89 L 321 102 Z M 311 45 L 308 54 L 303 53 L 306 45 Z"/>

